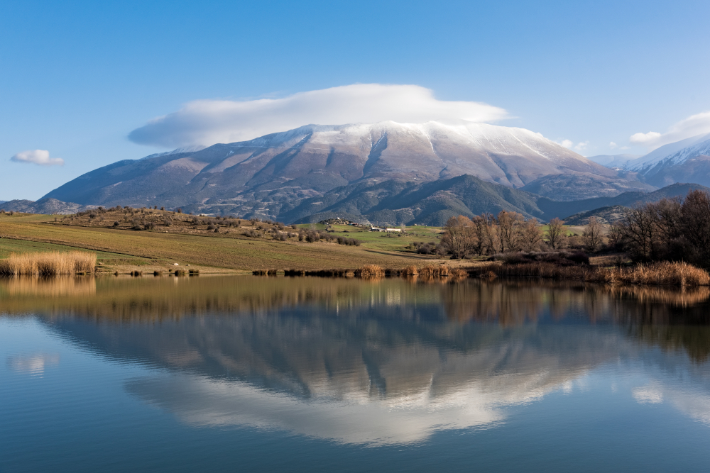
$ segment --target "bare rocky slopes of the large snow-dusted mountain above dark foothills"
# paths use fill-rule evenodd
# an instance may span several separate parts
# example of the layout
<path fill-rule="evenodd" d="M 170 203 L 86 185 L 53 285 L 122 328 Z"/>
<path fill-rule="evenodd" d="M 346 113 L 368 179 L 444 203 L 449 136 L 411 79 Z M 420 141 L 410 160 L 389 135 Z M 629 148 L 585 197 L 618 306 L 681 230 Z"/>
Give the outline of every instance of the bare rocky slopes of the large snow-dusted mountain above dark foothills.
<path fill-rule="evenodd" d="M 309 125 L 246 142 L 116 162 L 45 197 L 295 221 L 324 211 L 345 194 L 358 199 L 371 199 L 373 192 L 398 195 L 396 189 L 464 174 L 567 200 L 652 189 L 521 128 L 382 122 Z M 351 206 L 364 208 L 357 202 Z M 308 213 L 308 206 L 315 211 Z"/>

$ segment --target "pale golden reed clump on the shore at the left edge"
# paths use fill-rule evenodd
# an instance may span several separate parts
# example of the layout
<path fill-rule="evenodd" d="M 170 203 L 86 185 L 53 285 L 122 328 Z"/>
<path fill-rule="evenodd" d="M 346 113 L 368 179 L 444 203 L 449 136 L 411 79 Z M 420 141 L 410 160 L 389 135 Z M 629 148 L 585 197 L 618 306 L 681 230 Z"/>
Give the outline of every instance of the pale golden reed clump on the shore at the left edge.
<path fill-rule="evenodd" d="M 84 251 L 12 253 L 0 260 L 0 274 L 6 276 L 92 274 L 95 270 L 96 254 Z"/>

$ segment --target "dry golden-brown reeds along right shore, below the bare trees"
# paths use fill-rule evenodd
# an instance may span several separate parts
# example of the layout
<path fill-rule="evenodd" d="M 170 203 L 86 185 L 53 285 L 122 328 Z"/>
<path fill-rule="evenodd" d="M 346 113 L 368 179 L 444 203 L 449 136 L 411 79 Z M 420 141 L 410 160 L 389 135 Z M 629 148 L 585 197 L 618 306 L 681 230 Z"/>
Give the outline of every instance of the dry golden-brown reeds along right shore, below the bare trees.
<path fill-rule="evenodd" d="M 495 274 L 503 277 L 572 279 L 606 284 L 648 284 L 657 286 L 708 286 L 710 274 L 686 262 L 657 262 L 633 267 L 559 266 L 535 262 L 518 265 L 482 265 L 473 275 Z"/>

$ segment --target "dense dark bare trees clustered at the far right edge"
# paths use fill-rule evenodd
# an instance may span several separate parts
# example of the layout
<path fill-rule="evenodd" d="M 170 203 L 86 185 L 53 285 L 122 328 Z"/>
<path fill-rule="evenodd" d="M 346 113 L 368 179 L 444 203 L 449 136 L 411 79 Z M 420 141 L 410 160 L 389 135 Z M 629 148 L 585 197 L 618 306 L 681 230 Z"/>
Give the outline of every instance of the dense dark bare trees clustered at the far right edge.
<path fill-rule="evenodd" d="M 610 246 L 639 261 L 687 261 L 710 267 L 710 194 L 690 191 L 685 199 L 636 204 L 607 235 Z"/>

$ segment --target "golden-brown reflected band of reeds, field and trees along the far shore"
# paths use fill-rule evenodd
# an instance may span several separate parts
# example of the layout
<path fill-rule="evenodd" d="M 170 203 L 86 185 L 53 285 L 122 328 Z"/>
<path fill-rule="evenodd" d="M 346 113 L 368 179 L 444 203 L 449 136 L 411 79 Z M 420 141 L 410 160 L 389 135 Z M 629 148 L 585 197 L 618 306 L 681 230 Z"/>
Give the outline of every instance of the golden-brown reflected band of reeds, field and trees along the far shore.
<path fill-rule="evenodd" d="M 555 282 L 316 277 L 0 278 L 0 312 L 154 320 L 207 313 L 259 313 L 303 304 L 443 306 L 449 320 L 516 325 L 549 314 L 592 321 L 706 323 L 710 288 L 666 289 Z"/>

